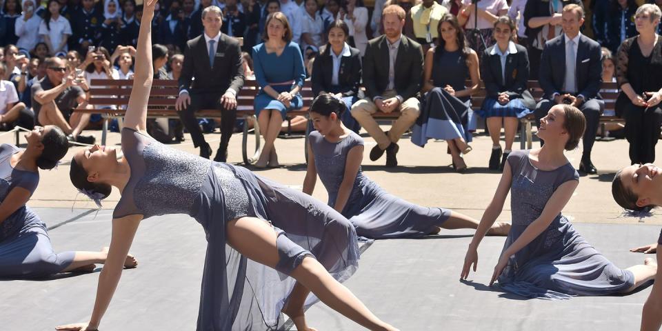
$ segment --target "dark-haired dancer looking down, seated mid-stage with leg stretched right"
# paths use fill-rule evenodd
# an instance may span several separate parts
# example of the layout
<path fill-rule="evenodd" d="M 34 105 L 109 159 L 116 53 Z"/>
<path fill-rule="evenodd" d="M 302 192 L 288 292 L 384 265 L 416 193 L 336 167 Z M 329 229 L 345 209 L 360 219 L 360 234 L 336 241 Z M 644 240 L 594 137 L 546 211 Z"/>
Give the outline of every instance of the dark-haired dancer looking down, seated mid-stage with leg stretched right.
<path fill-rule="evenodd" d="M 388 194 L 361 172 L 363 139 L 343 126 L 347 107 L 331 94 L 312 101 L 308 172 L 303 192 L 312 194 L 317 175 L 329 193 L 329 205 L 347 217 L 357 234 L 372 239 L 414 238 L 440 228 L 477 228 L 478 221 L 452 210 L 414 205 Z M 510 224 L 498 223 L 489 234 L 508 234 Z"/>

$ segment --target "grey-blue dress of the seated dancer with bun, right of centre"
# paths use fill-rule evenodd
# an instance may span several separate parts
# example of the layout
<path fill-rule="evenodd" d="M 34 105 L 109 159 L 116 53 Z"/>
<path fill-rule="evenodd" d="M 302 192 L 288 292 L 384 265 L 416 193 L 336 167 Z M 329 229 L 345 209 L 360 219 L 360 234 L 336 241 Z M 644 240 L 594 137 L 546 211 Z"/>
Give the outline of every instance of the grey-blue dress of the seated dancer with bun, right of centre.
<path fill-rule="evenodd" d="M 540 216 L 556 188 L 566 181 L 579 181 L 570 163 L 552 171 L 536 169 L 528 150 L 510 153 L 508 164 L 512 228 L 504 251 Z M 510 257 L 499 285 L 523 297 L 568 299 L 623 292 L 634 285 L 634 274 L 611 263 L 559 213 L 543 233 Z"/>

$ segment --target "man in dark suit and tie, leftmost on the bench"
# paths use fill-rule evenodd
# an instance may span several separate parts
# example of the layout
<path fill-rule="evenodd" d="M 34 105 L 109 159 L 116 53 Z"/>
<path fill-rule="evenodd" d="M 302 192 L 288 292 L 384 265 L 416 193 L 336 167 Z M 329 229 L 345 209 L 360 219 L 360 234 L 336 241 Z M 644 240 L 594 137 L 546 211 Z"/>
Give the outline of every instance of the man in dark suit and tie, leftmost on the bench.
<path fill-rule="evenodd" d="M 205 8 L 202 12 L 204 33 L 186 43 L 175 107 L 194 146 L 200 147 L 200 156 L 207 159 L 212 148 L 205 142 L 195 112 L 221 110 L 221 143 L 214 161 L 225 162 L 237 119 L 237 94 L 243 86 L 244 75 L 239 42 L 221 33 L 221 15 L 221 8 L 217 6 Z"/>

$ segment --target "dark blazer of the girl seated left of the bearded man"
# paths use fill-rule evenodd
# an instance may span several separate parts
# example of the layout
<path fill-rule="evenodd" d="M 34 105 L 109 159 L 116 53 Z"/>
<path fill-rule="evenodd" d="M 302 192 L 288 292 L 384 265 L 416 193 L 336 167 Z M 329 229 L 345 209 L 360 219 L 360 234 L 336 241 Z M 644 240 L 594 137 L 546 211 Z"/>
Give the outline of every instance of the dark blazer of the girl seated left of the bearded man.
<path fill-rule="evenodd" d="M 333 77 L 333 57 L 330 47 L 321 52 L 312 63 L 312 93 L 319 95 L 320 92 L 332 92 L 331 79 Z M 340 58 L 340 70 L 338 72 L 339 92 L 343 97 L 355 96 L 359 93 L 361 84 L 361 52 L 357 48 L 350 47 L 350 56 Z"/>

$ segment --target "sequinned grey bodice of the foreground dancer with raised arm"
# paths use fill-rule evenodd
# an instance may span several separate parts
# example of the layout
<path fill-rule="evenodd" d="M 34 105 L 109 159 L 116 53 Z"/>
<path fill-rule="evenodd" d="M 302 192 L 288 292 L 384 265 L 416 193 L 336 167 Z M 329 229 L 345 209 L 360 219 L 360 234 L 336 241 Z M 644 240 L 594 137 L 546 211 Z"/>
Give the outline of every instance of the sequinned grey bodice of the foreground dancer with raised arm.
<path fill-rule="evenodd" d="M 122 150 L 131 177 L 113 212 L 115 218 L 188 214 L 198 219 L 201 205 L 223 206 L 223 219 L 252 214 L 231 165 L 175 150 L 129 128 L 122 130 Z"/>

